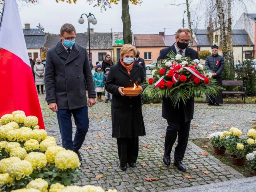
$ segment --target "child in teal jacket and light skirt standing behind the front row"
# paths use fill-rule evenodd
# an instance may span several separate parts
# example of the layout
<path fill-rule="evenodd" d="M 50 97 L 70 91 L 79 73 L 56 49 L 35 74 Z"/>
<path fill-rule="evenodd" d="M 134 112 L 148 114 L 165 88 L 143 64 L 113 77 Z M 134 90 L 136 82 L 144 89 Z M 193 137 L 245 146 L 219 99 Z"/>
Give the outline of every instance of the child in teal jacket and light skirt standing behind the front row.
<path fill-rule="evenodd" d="M 102 92 L 104 91 L 104 83 L 103 83 L 103 76 L 104 72 L 102 72 L 101 64 L 98 63 L 96 65 L 95 72 L 93 74 L 93 80 L 94 80 L 94 86 L 95 86 L 95 91 L 97 93 L 97 101 L 103 101 L 101 96 Z"/>

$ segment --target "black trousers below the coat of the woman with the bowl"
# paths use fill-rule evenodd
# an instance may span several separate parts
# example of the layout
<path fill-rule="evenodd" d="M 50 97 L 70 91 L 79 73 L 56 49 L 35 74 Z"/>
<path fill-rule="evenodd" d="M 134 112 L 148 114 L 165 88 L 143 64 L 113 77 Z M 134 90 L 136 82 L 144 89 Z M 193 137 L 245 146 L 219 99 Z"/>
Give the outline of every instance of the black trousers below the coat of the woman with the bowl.
<path fill-rule="evenodd" d="M 139 154 L 139 137 L 116 138 L 120 166 L 136 163 Z"/>

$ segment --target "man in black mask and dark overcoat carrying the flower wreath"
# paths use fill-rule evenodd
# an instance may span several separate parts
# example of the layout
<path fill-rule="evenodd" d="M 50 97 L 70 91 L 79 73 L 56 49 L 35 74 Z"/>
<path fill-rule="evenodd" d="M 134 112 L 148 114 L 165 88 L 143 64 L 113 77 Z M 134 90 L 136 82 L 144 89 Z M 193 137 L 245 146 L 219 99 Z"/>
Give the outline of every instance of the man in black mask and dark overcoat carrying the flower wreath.
<path fill-rule="evenodd" d="M 176 54 L 190 57 L 192 60 L 199 59 L 198 52 L 188 48 L 190 43 L 191 32 L 186 28 L 178 29 L 175 40 L 172 46 L 160 50 L 160 55 L 157 60 L 167 58 L 167 54 L 173 51 Z M 178 135 L 178 144 L 174 151 L 174 166 L 180 171 L 186 171 L 186 167 L 182 164 L 185 150 L 188 144 L 188 135 L 190 130 L 190 122 L 194 114 L 194 97 L 186 101 L 186 105 L 180 102 L 174 108 L 170 98 L 162 98 L 162 116 L 167 120 L 168 126 L 166 129 L 166 136 L 164 142 L 164 157 L 165 165 L 170 165 L 170 154 L 172 146 L 176 141 Z"/>

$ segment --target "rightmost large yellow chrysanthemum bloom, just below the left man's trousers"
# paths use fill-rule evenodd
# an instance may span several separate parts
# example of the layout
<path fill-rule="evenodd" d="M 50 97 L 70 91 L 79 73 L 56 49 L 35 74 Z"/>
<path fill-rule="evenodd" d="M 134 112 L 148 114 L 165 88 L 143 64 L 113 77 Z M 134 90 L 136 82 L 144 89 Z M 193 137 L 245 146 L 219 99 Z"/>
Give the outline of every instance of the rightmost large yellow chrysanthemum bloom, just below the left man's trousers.
<path fill-rule="evenodd" d="M 55 166 L 61 170 L 79 167 L 78 155 L 71 150 L 60 151 L 55 157 Z"/>

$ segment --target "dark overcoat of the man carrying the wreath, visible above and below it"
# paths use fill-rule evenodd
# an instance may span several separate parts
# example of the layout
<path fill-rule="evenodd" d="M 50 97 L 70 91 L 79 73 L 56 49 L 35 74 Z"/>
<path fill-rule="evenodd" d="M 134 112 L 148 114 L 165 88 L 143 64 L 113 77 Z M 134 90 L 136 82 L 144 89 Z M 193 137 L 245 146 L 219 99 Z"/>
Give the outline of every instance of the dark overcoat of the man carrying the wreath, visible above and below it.
<path fill-rule="evenodd" d="M 175 43 L 168 48 L 164 48 L 160 50 L 160 55 L 157 58 L 157 60 L 159 61 L 160 59 L 166 59 L 167 54 L 170 51 L 173 51 L 174 53 L 176 53 Z M 194 59 L 199 60 L 198 52 L 188 47 L 186 48 L 185 56 L 190 57 L 192 60 Z M 184 116 L 185 122 L 188 122 L 189 120 L 193 119 L 193 115 L 194 115 L 194 97 L 191 97 L 190 99 L 188 99 L 186 101 L 186 104 L 180 101 L 179 108 L 178 108 L 178 104 L 174 108 L 170 98 L 166 98 L 166 97 L 162 98 L 162 117 L 165 118 L 166 120 L 172 121 L 172 122 L 179 122 L 181 116 Z"/>

